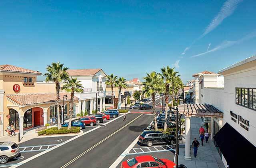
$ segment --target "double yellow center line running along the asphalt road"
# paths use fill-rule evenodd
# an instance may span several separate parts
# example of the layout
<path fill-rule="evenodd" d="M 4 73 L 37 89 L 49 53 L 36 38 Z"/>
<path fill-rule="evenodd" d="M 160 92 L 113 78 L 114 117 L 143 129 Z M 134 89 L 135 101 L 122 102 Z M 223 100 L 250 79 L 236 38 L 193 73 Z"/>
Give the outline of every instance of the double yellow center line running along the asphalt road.
<path fill-rule="evenodd" d="M 82 157 L 83 155 L 85 155 L 86 153 L 88 153 L 90 150 L 94 149 L 96 146 L 98 146 L 99 144 L 101 144 L 102 142 L 104 142 L 105 140 L 107 140 L 108 138 L 110 138 L 111 136 L 113 136 L 114 134 L 116 134 L 117 132 L 119 132 L 120 130 L 124 129 L 126 126 L 128 126 L 129 124 L 131 124 L 132 122 L 134 122 L 135 120 L 137 120 L 140 116 L 142 116 L 143 114 L 140 114 L 138 117 L 134 118 L 132 121 L 128 122 L 126 125 L 122 126 L 122 128 L 119 128 L 118 130 L 116 130 L 115 132 L 113 132 L 112 134 L 110 134 L 109 136 L 107 136 L 106 138 L 104 138 L 103 140 L 101 140 L 100 142 L 98 142 L 97 144 L 95 144 L 94 146 L 90 147 L 88 150 L 84 151 L 83 153 L 81 153 L 80 155 L 76 156 L 74 159 L 70 160 L 68 163 L 64 164 L 62 167 L 60 168 L 66 168 L 67 166 L 69 166 L 70 164 L 72 164 L 74 161 L 78 160 L 80 157 Z"/>

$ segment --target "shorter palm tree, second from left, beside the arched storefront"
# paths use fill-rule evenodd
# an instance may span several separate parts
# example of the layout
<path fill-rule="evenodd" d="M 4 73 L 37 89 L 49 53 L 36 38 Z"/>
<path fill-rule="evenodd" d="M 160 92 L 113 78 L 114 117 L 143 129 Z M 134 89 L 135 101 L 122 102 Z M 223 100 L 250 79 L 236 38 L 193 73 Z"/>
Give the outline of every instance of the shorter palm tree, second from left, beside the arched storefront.
<path fill-rule="evenodd" d="M 84 91 L 84 87 L 80 84 L 81 81 L 78 81 L 76 78 L 68 78 L 67 81 L 64 82 L 62 86 L 62 90 L 66 90 L 67 92 L 71 93 L 70 98 L 70 108 L 69 108 L 69 122 L 68 122 L 68 129 L 71 129 L 71 119 L 73 116 L 73 106 L 74 106 L 74 93 L 82 93 Z"/>

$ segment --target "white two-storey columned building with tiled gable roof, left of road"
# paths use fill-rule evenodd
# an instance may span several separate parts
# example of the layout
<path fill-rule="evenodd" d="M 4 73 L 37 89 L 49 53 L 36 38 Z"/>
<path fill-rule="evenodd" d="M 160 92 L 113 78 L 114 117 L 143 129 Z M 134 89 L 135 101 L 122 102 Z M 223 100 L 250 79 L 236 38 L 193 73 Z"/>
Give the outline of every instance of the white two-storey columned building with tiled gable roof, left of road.
<path fill-rule="evenodd" d="M 76 93 L 79 98 L 79 106 L 77 114 L 87 111 L 92 114 L 92 110 L 102 111 L 105 109 L 106 86 L 105 81 L 107 75 L 102 69 L 82 69 L 68 70 L 69 76 L 77 78 L 84 87 L 83 93 Z M 96 99 L 98 101 L 96 101 Z M 96 102 L 98 104 L 96 104 Z"/>

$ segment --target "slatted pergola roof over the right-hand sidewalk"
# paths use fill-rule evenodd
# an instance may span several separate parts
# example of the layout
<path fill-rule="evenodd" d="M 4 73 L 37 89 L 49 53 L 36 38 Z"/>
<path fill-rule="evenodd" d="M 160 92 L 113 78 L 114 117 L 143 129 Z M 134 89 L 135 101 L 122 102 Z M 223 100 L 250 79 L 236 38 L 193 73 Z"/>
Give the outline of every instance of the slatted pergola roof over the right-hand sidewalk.
<path fill-rule="evenodd" d="M 181 104 L 178 105 L 180 114 L 197 117 L 219 117 L 223 118 L 223 112 L 210 104 Z"/>

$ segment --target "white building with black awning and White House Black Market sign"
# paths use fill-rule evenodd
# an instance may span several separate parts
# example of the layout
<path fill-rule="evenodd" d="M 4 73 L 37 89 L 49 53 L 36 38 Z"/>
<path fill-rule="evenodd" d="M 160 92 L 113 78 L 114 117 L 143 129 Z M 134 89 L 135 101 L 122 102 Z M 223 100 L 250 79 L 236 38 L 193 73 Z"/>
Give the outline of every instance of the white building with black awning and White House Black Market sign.
<path fill-rule="evenodd" d="M 199 80 L 199 103 L 223 112 L 223 118 L 211 118 L 209 132 L 224 165 L 247 167 L 256 152 L 256 56 Z"/>

